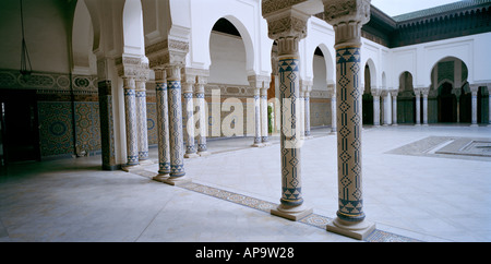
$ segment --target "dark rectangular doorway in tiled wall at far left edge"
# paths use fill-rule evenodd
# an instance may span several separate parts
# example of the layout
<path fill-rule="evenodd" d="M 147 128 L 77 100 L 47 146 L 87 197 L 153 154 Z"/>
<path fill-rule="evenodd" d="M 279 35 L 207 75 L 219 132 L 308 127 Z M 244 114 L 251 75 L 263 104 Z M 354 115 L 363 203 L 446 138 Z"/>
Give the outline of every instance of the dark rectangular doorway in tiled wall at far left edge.
<path fill-rule="evenodd" d="M 0 91 L 3 163 L 39 160 L 35 91 Z"/>

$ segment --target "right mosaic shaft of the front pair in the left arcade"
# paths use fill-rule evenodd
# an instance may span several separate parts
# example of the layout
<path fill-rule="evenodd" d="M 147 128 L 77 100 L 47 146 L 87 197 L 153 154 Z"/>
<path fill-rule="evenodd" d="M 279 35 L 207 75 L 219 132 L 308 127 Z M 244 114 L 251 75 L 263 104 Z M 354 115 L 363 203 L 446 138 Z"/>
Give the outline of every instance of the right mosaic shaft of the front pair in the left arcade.
<path fill-rule="evenodd" d="M 167 95 L 169 106 L 170 178 L 179 178 L 184 171 L 184 144 L 182 131 L 181 69 L 167 68 Z"/>

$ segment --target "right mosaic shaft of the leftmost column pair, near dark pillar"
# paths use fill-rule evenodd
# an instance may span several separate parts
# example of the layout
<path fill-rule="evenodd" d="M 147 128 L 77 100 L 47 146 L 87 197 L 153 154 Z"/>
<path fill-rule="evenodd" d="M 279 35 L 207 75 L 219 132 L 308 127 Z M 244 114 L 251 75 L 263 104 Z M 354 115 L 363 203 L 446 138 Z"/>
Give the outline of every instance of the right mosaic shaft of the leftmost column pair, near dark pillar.
<path fill-rule="evenodd" d="M 148 159 L 148 128 L 146 120 L 146 87 L 145 81 L 136 81 L 136 120 L 140 160 Z"/>

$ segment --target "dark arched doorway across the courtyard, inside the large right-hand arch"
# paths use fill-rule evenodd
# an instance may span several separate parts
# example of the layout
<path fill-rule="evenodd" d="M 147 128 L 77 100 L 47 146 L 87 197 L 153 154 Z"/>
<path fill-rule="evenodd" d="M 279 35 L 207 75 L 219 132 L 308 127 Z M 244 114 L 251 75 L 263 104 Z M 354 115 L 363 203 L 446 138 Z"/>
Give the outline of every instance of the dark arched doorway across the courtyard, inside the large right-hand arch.
<path fill-rule="evenodd" d="M 453 86 L 450 83 L 443 83 L 439 91 L 439 122 L 457 122 L 457 98 L 452 94 Z"/>

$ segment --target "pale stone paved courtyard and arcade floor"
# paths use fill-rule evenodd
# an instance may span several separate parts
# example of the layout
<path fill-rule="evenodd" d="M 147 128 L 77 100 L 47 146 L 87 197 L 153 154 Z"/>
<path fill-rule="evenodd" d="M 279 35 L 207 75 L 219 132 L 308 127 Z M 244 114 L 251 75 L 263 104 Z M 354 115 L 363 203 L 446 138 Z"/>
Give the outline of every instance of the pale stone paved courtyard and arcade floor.
<path fill-rule="evenodd" d="M 226 139 L 185 159 L 182 187 L 153 181 L 156 164 L 101 171 L 97 155 L 3 168 L 0 241 L 358 241 L 325 230 L 337 211 L 336 135 L 312 134 L 301 166 L 314 214 L 300 221 L 268 213 L 280 197 L 277 137 L 262 148 Z M 441 151 L 466 140 L 483 155 Z M 367 241 L 491 241 L 487 142 L 488 127 L 366 128 L 364 211 L 376 223 Z"/>

